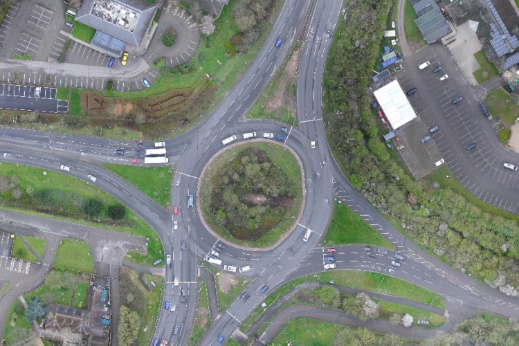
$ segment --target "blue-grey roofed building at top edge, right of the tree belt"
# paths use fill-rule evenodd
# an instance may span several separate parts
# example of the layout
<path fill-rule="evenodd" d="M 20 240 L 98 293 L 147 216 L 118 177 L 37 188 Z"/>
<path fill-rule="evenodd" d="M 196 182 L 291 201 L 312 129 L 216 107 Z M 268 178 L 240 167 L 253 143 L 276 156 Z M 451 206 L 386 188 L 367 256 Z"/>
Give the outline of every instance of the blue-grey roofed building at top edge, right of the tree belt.
<path fill-rule="evenodd" d="M 452 32 L 435 0 L 410 0 L 418 18 L 415 20 L 427 44 Z"/>

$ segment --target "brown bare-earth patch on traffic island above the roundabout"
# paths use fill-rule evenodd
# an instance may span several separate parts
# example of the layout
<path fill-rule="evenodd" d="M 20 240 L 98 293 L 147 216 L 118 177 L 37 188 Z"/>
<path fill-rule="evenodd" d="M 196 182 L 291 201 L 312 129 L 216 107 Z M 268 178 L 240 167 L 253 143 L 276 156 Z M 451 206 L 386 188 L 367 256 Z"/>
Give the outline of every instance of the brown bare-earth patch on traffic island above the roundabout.
<path fill-rule="evenodd" d="M 293 51 L 289 62 L 286 63 L 284 75 L 281 76 L 279 85 L 277 86 L 277 92 L 266 102 L 266 112 L 275 111 L 280 107 L 295 109 L 295 99 L 293 98 L 293 95 L 290 95 L 289 93 L 289 86 L 294 85 L 297 78 L 300 51 L 301 49 Z"/>

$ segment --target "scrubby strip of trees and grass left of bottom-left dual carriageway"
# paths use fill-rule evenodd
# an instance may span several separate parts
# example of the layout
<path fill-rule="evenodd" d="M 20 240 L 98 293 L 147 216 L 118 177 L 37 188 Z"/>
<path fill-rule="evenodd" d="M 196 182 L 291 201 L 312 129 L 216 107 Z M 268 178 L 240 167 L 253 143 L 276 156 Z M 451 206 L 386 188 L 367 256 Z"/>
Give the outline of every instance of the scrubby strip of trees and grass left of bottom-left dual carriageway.
<path fill-rule="evenodd" d="M 133 345 L 136 340 L 137 345 L 147 345 L 152 338 L 155 320 L 162 308 L 163 277 L 145 274 L 142 280 L 147 286 L 140 282 L 138 271 L 120 268 L 120 345 Z M 154 282 L 155 286 L 151 282 Z M 145 327 L 147 331 L 144 331 Z"/>

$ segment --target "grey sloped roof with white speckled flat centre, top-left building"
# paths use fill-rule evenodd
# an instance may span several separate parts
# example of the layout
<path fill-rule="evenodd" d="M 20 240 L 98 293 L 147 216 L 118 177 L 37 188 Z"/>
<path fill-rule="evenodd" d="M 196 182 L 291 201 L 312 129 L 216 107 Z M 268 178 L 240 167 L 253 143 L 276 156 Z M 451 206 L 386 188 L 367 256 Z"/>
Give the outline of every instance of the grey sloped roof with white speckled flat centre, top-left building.
<path fill-rule="evenodd" d="M 138 47 L 156 9 L 145 0 L 83 0 L 75 20 Z"/>

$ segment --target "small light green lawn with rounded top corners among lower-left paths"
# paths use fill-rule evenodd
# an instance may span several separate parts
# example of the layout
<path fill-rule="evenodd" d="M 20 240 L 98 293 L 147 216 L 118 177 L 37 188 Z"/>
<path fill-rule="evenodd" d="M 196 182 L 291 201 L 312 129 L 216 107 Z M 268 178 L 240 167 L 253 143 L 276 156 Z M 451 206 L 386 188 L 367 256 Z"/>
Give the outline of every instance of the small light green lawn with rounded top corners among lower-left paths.
<path fill-rule="evenodd" d="M 57 247 L 53 266 L 93 273 L 93 256 L 89 244 L 71 238 L 63 239 L 60 246 Z"/>

